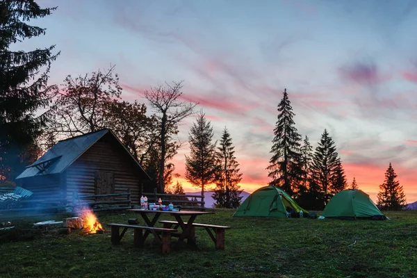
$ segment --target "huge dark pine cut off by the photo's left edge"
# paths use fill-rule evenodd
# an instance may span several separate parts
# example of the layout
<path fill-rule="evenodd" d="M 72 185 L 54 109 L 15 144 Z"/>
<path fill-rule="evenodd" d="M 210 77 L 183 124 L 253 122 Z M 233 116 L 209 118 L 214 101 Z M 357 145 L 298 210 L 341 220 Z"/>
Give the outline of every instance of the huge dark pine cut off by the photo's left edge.
<path fill-rule="evenodd" d="M 47 87 L 54 45 L 33 51 L 11 51 L 17 42 L 45 34 L 44 28 L 28 25 L 31 19 L 51 14 L 56 8 L 40 8 L 33 0 L 0 1 L 0 178 L 14 179 L 24 167 L 28 153 L 36 149 L 46 117 L 36 117 L 49 104 Z M 44 72 L 40 74 L 40 70 Z M 12 172 L 13 171 L 13 172 Z"/>

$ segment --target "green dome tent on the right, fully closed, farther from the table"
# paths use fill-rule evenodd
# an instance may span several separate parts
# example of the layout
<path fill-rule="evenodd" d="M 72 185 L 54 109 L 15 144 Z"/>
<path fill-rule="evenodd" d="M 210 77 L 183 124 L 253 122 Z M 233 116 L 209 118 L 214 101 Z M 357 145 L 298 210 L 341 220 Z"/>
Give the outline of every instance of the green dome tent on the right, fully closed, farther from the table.
<path fill-rule="evenodd" d="M 325 218 L 373 218 L 375 215 L 384 217 L 368 194 L 352 189 L 334 195 L 322 213 Z"/>

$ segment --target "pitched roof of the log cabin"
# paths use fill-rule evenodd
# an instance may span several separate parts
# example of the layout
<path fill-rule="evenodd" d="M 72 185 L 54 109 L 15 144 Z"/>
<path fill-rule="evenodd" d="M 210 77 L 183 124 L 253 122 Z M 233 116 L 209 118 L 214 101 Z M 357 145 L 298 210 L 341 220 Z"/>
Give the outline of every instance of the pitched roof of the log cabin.
<path fill-rule="evenodd" d="M 95 142 L 108 133 L 110 133 L 117 140 L 117 142 L 122 145 L 124 151 L 129 154 L 130 158 L 134 161 L 134 164 L 138 166 L 142 174 L 145 174 L 145 177 L 150 179 L 145 170 L 143 170 L 142 166 L 135 158 L 133 158 L 131 153 L 126 149 L 126 147 L 124 147 L 122 142 L 120 142 L 119 138 L 115 136 L 111 129 L 101 129 L 99 131 L 87 133 L 81 136 L 60 140 L 37 161 L 26 166 L 26 170 L 24 170 L 22 174 L 19 174 L 16 179 L 62 173 L 85 151 L 94 145 Z"/>

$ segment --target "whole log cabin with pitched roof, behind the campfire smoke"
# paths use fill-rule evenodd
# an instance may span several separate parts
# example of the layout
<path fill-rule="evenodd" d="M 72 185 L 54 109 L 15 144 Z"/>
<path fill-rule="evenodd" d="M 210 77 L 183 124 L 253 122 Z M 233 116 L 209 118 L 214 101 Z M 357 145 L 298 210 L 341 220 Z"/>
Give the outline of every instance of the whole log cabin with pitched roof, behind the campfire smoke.
<path fill-rule="evenodd" d="M 139 204 L 149 181 L 110 129 L 59 141 L 17 177 L 19 186 L 33 192 L 33 199 L 63 205 L 72 204 L 74 191 L 102 195 L 126 193 L 128 188 L 132 203 Z"/>

